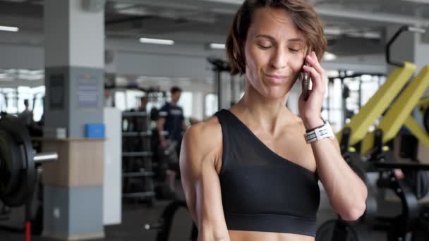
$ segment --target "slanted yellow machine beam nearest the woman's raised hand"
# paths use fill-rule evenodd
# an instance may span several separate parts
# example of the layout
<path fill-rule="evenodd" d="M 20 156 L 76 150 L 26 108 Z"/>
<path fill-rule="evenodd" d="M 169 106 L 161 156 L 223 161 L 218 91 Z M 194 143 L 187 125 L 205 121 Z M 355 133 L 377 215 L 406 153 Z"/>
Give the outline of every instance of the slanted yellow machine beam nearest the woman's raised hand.
<path fill-rule="evenodd" d="M 373 125 L 375 120 L 387 109 L 394 97 L 397 96 L 409 78 L 411 78 L 415 70 L 416 65 L 410 62 L 404 62 L 404 67 L 395 68 L 387 77 L 385 84 L 382 85 L 365 106 L 351 118 L 350 123 L 344 126 L 344 128 L 349 127 L 351 129 L 351 146 L 363 140 L 363 137 L 368 134 L 370 126 Z M 342 132 L 341 130 L 337 133 L 339 142 L 341 142 Z"/>

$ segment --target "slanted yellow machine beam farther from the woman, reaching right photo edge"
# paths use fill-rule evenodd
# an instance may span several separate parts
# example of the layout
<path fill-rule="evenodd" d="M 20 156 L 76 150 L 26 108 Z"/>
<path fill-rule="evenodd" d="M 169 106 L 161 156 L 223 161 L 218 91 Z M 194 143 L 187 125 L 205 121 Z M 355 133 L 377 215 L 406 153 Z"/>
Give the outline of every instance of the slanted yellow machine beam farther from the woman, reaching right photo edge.
<path fill-rule="evenodd" d="M 410 82 L 406 89 L 404 89 L 404 92 L 401 93 L 397 100 L 394 101 L 394 104 L 390 106 L 389 111 L 385 113 L 382 121 L 377 126 L 377 129 L 380 129 L 383 132 L 383 144 L 392 140 L 398 134 L 401 126 L 404 125 L 408 119 L 412 119 L 408 120 L 409 123 L 413 121 L 411 112 L 416 108 L 416 104 L 418 104 L 418 101 L 421 99 L 428 86 L 429 66 L 425 66 L 420 70 L 417 77 Z M 423 132 L 423 135 L 426 135 L 426 132 Z M 426 137 L 426 139 L 427 138 L 428 137 Z M 361 154 L 365 155 L 371 148 L 373 148 L 373 145 L 374 133 L 370 133 L 363 139 Z"/>

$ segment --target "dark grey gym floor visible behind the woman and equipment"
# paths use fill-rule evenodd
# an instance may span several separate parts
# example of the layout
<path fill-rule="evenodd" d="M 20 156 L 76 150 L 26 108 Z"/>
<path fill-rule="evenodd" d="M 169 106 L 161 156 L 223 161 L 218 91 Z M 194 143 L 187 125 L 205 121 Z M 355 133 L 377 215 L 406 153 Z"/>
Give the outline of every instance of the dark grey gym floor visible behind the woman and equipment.
<path fill-rule="evenodd" d="M 178 196 L 184 199 L 183 191 L 181 190 L 180 183 L 177 183 Z M 336 214 L 332 211 L 326 193 L 321 190 L 320 195 L 320 209 L 318 212 L 318 225 L 327 221 L 328 219 L 336 218 Z M 121 225 L 112 225 L 105 227 L 106 238 L 98 241 L 155 241 L 157 231 L 145 230 L 146 223 L 156 223 L 159 216 L 169 201 L 157 201 L 155 206 L 148 207 L 145 204 L 138 202 L 124 203 L 122 210 L 122 223 Z M 385 212 L 392 214 L 392 209 L 397 209 L 395 206 L 383 205 Z M 394 211 L 397 213 L 397 211 Z M 187 215 L 185 211 L 179 211 L 176 215 L 174 225 L 171 229 L 171 241 L 186 240 L 191 232 L 191 216 Z M 177 220 L 177 221 L 176 221 Z M 371 233 L 372 240 L 382 241 L 386 240 L 385 234 L 380 232 Z M 6 230 L 0 230 L 0 240 L 7 241 L 22 241 L 24 235 L 20 233 L 11 233 Z M 54 241 L 47 237 L 32 236 L 32 241 Z M 93 240 L 97 241 L 97 240 Z M 360 240 L 365 241 L 365 240 Z"/>

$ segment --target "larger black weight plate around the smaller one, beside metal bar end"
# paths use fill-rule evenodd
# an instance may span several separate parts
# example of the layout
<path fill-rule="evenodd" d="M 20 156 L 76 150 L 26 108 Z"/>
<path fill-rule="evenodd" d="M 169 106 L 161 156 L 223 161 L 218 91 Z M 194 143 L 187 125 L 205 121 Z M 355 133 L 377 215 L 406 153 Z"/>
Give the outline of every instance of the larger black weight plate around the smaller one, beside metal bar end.
<path fill-rule="evenodd" d="M 19 183 L 16 189 L 1 197 L 1 199 L 8 206 L 22 206 L 25 202 L 30 202 L 35 189 L 36 171 L 30 135 L 27 128 L 14 116 L 1 118 L 0 130 L 8 132 L 12 137 L 13 143 L 18 146 L 16 156 L 20 161 L 18 160 L 17 163 L 23 167 L 18 173 Z"/>

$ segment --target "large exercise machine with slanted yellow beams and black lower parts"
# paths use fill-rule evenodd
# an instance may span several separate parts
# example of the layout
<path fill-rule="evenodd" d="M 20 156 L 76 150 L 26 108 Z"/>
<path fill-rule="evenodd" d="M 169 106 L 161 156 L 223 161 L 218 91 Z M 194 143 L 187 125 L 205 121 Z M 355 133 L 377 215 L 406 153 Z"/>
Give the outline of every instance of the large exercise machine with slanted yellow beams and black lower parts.
<path fill-rule="evenodd" d="M 386 58 L 387 63 L 398 67 L 389 75 L 385 85 L 382 85 L 361 111 L 351 118 L 349 125 L 346 125 L 337 134 L 342 155 L 347 163 L 351 166 L 358 166 L 360 176 L 362 173 L 363 175 L 369 172 L 380 173 L 377 187 L 394 191 L 401 200 L 401 214 L 394 218 L 376 216 L 377 206 L 375 205 L 374 209 L 374 206 L 370 204 L 376 194 L 374 188 L 365 182 L 368 187 L 368 200 L 363 217 L 355 223 L 342 221 L 341 218 L 328 221 L 319 228 L 316 240 L 362 240 L 359 235 L 368 233 L 368 227 L 365 232 L 356 231 L 361 228 L 356 223 L 363 221 L 366 225 L 384 227 L 389 241 L 427 240 L 429 233 L 427 232 L 428 223 L 425 223 L 425 220 L 427 220 L 428 211 L 418 206 L 418 197 L 424 196 L 429 190 L 428 179 L 424 178 L 425 174 L 419 173 L 422 170 L 429 170 L 429 165 L 394 162 L 394 155 L 384 145 L 397 135 L 402 125 L 406 125 L 413 135 L 429 145 L 427 134 L 410 116 L 411 111 L 418 104 L 418 99 L 429 85 L 429 66 L 425 66 L 416 79 L 404 89 L 404 92 L 385 113 L 377 129 L 366 135 L 370 125 L 373 125 L 374 121 L 384 113 L 416 69 L 412 63 L 398 63 L 390 60 L 390 46 L 404 31 L 421 32 L 415 27 L 403 26 L 392 37 L 387 44 Z M 361 153 L 356 152 L 356 149 L 351 146 L 360 146 Z M 423 235 L 421 235 L 422 233 Z"/>

